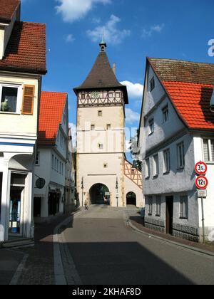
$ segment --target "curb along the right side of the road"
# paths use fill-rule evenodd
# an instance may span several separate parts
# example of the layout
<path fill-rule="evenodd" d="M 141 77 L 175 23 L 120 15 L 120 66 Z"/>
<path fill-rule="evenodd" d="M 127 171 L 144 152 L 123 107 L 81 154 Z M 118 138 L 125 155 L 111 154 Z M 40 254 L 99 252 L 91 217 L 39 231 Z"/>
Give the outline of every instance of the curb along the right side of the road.
<path fill-rule="evenodd" d="M 188 246 L 188 245 L 185 245 L 185 244 L 181 244 L 181 243 L 178 243 L 178 242 L 175 242 L 175 241 L 170 241 L 170 240 L 167 240 L 165 238 L 161 238 L 160 236 L 156 236 L 156 235 L 153 235 L 153 234 L 148 234 L 146 233 L 145 231 L 141 231 L 141 229 L 138 229 L 136 226 L 134 226 L 132 223 L 131 223 L 131 220 L 128 219 L 128 215 L 126 214 L 126 223 L 128 224 L 128 226 L 131 227 L 131 229 L 133 229 L 134 231 L 137 231 L 138 233 L 140 234 L 143 234 L 145 236 L 150 236 L 152 238 L 156 238 L 158 239 L 159 241 L 163 241 L 163 243 L 170 243 L 172 245 L 175 245 L 175 246 L 178 246 L 178 247 L 181 247 L 181 248 L 185 248 L 185 249 L 188 249 L 190 251 L 195 251 L 197 253 L 202 253 L 204 254 L 205 256 L 211 256 L 211 257 L 214 257 L 214 253 L 210 252 L 210 251 L 205 251 L 203 249 L 199 249 L 199 248 L 195 248 L 193 246 Z"/>

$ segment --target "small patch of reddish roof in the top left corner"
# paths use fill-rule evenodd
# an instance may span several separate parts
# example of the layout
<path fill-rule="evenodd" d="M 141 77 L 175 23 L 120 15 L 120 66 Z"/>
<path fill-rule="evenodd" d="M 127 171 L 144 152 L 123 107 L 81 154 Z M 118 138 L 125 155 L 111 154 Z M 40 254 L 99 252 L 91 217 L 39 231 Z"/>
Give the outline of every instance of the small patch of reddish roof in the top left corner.
<path fill-rule="evenodd" d="M 19 5 L 19 0 L 0 0 L 0 21 L 10 23 Z"/>

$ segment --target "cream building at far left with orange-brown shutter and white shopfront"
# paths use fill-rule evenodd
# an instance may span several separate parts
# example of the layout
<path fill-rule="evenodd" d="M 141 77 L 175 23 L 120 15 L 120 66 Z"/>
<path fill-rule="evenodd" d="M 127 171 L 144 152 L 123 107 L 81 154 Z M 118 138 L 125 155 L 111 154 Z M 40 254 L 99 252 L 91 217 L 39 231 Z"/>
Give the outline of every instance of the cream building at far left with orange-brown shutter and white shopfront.
<path fill-rule="evenodd" d="M 0 12 L 0 241 L 33 238 L 32 197 L 46 26 L 20 21 L 20 1 Z"/>

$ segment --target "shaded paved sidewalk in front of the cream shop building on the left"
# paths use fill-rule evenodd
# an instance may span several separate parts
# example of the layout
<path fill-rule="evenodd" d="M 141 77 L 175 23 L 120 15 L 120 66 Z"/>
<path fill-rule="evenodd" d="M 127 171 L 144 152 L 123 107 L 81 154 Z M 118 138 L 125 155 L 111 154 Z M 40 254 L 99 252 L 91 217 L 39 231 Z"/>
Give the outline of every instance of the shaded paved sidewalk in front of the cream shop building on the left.
<path fill-rule="evenodd" d="M 24 265 L 21 265 L 22 271 L 17 285 L 55 285 L 54 276 L 54 229 L 58 224 L 71 215 L 62 215 L 51 221 L 50 224 L 37 224 L 35 228 L 35 246 L 29 248 L 20 248 L 14 250 L 0 250 L 0 285 L 9 284 L 16 273 L 16 269 L 28 256 Z M 11 266 L 11 271 L 5 279 L 5 268 Z M 3 271 L 3 272 L 2 272 Z"/>

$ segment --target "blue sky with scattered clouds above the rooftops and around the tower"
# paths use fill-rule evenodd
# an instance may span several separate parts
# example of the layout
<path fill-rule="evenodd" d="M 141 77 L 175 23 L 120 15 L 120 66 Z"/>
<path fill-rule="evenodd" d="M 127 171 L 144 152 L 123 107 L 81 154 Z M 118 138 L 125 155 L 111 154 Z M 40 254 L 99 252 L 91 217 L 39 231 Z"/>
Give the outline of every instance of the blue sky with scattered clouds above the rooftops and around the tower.
<path fill-rule="evenodd" d="M 68 93 L 69 122 L 76 96 L 98 55 L 105 31 L 117 77 L 128 84 L 127 126 L 138 127 L 146 56 L 214 63 L 213 0 L 22 0 L 21 19 L 46 23 L 47 68 L 43 90 Z"/>

